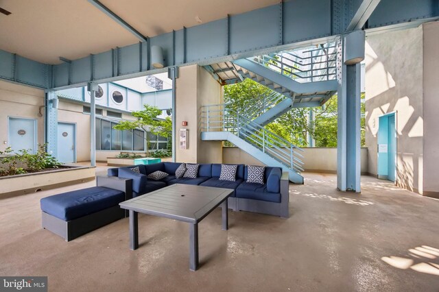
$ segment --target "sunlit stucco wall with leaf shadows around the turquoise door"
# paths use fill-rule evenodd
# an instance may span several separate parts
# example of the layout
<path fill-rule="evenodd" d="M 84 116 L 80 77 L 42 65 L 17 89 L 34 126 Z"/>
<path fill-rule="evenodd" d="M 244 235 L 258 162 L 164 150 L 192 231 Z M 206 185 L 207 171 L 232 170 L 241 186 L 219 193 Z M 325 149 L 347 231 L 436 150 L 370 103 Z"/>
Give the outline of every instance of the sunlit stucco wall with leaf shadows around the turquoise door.
<path fill-rule="evenodd" d="M 379 117 L 396 112 L 396 184 L 423 188 L 423 27 L 366 38 L 368 172 L 377 175 Z"/>

